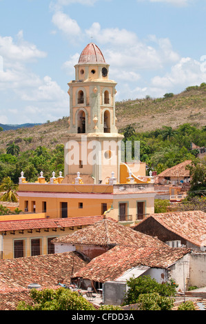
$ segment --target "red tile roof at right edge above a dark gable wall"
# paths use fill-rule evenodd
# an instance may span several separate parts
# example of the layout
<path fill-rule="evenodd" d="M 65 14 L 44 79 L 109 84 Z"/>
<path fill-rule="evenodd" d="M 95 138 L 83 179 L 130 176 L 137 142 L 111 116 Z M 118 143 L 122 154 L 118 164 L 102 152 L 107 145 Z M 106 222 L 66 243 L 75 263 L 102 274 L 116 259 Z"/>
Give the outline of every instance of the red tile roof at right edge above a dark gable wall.
<path fill-rule="evenodd" d="M 200 247 L 206 245 L 206 213 L 200 210 L 188 212 L 165 212 L 159 214 L 150 214 L 141 221 L 147 222 L 148 218 L 154 218 L 167 230 L 183 237 L 186 241 Z M 139 223 L 134 227 L 138 231 Z"/>

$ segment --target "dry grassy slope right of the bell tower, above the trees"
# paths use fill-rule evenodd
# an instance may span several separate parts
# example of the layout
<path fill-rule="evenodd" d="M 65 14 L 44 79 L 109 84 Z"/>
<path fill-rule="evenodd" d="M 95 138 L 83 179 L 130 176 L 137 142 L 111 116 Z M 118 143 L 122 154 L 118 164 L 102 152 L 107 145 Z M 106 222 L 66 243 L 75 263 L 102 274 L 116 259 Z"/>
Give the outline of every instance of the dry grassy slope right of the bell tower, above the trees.
<path fill-rule="evenodd" d="M 155 130 L 163 125 L 177 128 L 183 123 L 200 128 L 206 120 L 206 86 L 189 87 L 171 98 L 118 102 L 116 117 L 119 130 L 128 124 L 138 132 Z"/>

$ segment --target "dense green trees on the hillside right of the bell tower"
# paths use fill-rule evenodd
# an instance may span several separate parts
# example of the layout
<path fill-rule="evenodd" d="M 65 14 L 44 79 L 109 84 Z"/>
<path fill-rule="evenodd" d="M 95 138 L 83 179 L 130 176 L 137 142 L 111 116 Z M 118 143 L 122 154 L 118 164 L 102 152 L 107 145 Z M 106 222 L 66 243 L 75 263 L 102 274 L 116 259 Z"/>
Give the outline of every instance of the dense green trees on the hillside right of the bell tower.
<path fill-rule="evenodd" d="M 191 149 L 191 143 L 199 147 L 206 146 L 206 128 L 198 129 L 185 123 L 175 130 L 168 126 L 157 128 L 151 132 L 135 132 L 127 125 L 123 134 L 124 141 L 140 142 L 140 160 L 157 173 L 185 160 L 194 160 L 198 150 Z"/>

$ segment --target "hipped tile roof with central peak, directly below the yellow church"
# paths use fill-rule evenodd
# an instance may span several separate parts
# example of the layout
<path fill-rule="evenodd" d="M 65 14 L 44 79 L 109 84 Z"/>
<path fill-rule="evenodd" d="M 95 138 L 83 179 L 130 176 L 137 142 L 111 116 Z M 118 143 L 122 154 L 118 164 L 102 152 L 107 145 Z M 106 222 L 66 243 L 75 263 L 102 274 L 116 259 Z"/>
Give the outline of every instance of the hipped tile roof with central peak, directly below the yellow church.
<path fill-rule="evenodd" d="M 83 230 L 56 238 L 52 240 L 52 243 L 98 246 L 114 246 L 116 244 L 165 245 L 165 243 L 152 238 L 152 236 L 136 232 L 130 227 L 116 223 L 112 219 L 103 219 L 103 221 L 89 225 Z"/>

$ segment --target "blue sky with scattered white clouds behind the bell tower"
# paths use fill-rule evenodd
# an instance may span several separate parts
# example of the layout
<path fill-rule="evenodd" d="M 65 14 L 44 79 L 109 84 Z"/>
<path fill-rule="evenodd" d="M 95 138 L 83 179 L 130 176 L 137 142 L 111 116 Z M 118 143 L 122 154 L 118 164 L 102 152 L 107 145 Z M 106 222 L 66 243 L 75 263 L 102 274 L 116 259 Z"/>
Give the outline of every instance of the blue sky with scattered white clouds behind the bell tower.
<path fill-rule="evenodd" d="M 0 0 L 0 123 L 69 116 L 68 82 L 94 41 L 116 101 L 206 82 L 206 0 Z"/>

